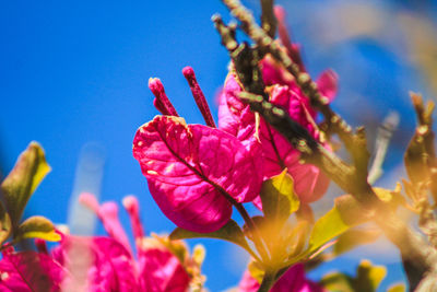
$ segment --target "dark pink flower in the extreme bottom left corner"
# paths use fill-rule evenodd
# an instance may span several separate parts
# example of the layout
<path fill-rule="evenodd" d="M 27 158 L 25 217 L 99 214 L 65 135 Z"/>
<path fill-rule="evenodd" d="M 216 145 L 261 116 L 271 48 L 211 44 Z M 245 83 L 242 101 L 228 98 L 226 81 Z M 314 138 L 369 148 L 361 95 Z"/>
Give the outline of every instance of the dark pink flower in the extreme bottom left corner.
<path fill-rule="evenodd" d="M 50 256 L 36 252 L 2 253 L 0 260 L 0 291 L 55 292 L 68 273 Z"/>

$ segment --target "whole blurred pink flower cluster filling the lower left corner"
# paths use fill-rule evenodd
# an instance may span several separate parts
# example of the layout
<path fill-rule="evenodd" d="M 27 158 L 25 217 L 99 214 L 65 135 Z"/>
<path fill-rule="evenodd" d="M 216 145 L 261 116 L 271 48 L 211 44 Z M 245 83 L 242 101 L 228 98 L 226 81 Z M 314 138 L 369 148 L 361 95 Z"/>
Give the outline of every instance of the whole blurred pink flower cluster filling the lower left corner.
<path fill-rule="evenodd" d="M 123 199 L 135 241 L 137 254 L 118 220 L 114 202 L 99 206 L 84 194 L 81 200 L 102 220 L 109 236 L 73 236 L 61 233 L 51 252 L 37 240 L 37 252 L 3 252 L 0 261 L 1 291 L 185 292 L 202 284 L 200 262 L 181 242 L 145 237 L 133 196 Z"/>

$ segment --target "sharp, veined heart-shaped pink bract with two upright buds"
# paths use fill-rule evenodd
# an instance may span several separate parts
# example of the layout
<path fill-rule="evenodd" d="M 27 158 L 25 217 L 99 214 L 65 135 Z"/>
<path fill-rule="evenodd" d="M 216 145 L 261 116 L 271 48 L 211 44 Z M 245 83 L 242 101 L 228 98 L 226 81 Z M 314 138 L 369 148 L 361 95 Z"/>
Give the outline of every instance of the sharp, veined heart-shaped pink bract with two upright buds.
<path fill-rule="evenodd" d="M 215 128 L 192 69 L 182 72 L 208 126 L 187 125 L 177 117 L 176 110 L 168 109 L 173 106 L 161 81 L 153 79 L 154 104 L 165 116 L 139 128 L 133 156 L 167 218 L 190 231 L 213 232 L 231 219 L 232 203 L 249 202 L 259 195 L 262 174 L 243 140 Z"/>

